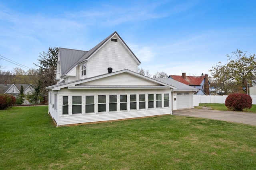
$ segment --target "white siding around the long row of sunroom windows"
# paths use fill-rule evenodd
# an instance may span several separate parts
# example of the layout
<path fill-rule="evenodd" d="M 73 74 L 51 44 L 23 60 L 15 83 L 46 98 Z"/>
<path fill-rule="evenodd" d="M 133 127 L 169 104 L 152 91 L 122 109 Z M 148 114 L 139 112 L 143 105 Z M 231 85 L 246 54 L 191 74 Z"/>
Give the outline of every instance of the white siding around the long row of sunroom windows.
<path fill-rule="evenodd" d="M 161 93 L 162 94 L 162 108 L 156 108 L 156 102 L 154 101 L 155 107 L 153 109 L 139 109 L 137 107 L 137 110 L 131 110 L 129 111 L 129 95 L 130 94 L 136 94 L 137 98 L 139 94 L 145 94 L 146 95 L 146 101 L 147 101 L 147 95 L 148 94 L 154 94 L 154 98 L 156 97 L 156 94 Z M 169 107 L 164 107 L 164 93 L 169 94 Z M 72 101 L 71 98 L 74 95 L 81 95 L 82 96 L 82 114 L 76 114 L 72 115 Z M 85 103 L 84 99 L 86 95 L 94 95 L 94 101 L 95 101 L 95 113 L 85 113 Z M 127 104 L 128 104 L 128 111 L 120 111 L 119 109 L 119 103 L 118 105 L 118 111 L 108 111 L 108 104 L 106 112 L 104 113 L 97 113 L 96 111 L 96 105 L 97 105 L 97 95 L 106 95 L 106 100 L 108 103 L 108 95 L 117 95 L 119 99 L 119 95 L 128 95 L 127 96 Z M 69 96 L 69 115 L 62 115 L 62 96 Z M 68 125 L 68 124 L 76 124 L 76 123 L 88 123 L 88 122 L 97 122 L 97 121 L 111 121 L 111 120 L 119 120 L 119 119 L 128 119 L 128 118 L 137 118 L 137 117 L 147 117 L 147 116 L 155 116 L 155 115 L 165 115 L 165 114 L 171 114 L 171 94 L 170 89 L 158 89 L 158 90 L 69 90 L 69 89 L 62 89 L 61 95 L 59 97 L 59 121 L 58 125 Z M 137 101 L 138 102 L 138 101 Z M 137 106 L 139 104 L 137 103 Z M 50 108 L 50 105 L 49 105 Z M 146 102 L 146 108 L 147 108 L 147 102 Z"/>

